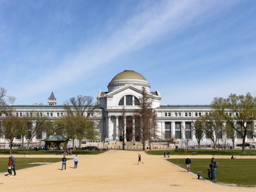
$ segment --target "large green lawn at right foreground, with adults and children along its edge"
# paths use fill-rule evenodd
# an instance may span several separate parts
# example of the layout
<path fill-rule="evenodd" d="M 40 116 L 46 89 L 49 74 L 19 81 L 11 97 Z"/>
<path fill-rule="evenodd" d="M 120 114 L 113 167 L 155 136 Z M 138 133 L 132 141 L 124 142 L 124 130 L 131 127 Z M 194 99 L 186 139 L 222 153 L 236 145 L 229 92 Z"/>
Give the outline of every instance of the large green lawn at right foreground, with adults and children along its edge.
<path fill-rule="evenodd" d="M 214 183 L 230 186 L 256 187 L 256 160 L 255 159 L 218 159 L 219 166 L 216 168 L 216 181 Z M 185 158 L 168 159 L 168 161 L 186 169 Z M 208 179 L 207 169 L 210 159 L 191 159 L 190 172 L 197 174 L 200 169 L 201 177 Z"/>

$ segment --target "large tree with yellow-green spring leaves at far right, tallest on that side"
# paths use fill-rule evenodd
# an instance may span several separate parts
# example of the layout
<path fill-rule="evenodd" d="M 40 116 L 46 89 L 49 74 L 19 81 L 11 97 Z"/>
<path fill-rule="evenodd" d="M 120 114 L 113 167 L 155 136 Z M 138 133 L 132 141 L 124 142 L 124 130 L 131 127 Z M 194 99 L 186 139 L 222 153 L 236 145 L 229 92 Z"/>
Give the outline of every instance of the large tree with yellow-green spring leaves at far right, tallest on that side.
<path fill-rule="evenodd" d="M 245 140 L 251 124 L 256 120 L 256 98 L 250 93 L 244 95 L 230 94 L 228 98 L 216 97 L 212 108 L 240 134 L 243 141 L 242 152 L 245 152 Z M 231 115 L 230 115 L 231 113 Z M 236 124 L 233 123 L 235 120 Z M 255 136 L 254 133 L 250 132 Z"/>

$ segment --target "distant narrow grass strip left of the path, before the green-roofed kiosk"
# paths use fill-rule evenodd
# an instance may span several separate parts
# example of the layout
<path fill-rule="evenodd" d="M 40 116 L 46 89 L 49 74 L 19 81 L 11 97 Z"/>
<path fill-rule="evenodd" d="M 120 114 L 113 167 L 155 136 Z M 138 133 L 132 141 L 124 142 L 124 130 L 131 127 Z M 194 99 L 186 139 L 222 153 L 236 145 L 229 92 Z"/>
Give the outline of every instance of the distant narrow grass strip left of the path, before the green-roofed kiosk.
<path fill-rule="evenodd" d="M 9 152 L 10 149 L 0 149 L 0 155 L 3 155 L 4 152 Z M 100 154 L 103 153 L 102 151 L 87 151 L 87 150 L 72 150 L 72 155 L 87 155 L 87 154 Z M 12 149 L 12 154 L 13 155 L 30 155 L 31 154 L 31 150 L 26 150 L 26 149 Z M 55 155 L 56 151 L 35 151 L 32 150 L 32 154 L 33 155 Z M 8 156 L 8 154 L 6 154 L 6 157 Z"/>

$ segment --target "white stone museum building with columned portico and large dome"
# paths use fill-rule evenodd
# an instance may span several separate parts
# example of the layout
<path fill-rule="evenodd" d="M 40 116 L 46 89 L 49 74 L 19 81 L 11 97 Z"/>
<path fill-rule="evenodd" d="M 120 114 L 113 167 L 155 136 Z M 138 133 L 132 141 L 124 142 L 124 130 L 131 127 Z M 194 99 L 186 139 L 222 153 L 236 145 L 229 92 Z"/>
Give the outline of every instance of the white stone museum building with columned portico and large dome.
<path fill-rule="evenodd" d="M 196 138 L 192 132 L 192 122 L 202 115 L 211 113 L 210 105 L 167 105 L 162 106 L 161 94 L 159 90 L 150 91 L 150 84 L 138 72 L 133 70 L 125 70 L 120 72 L 108 84 L 108 91 L 99 90 L 97 95 L 98 108 L 90 114 L 99 129 L 100 140 L 108 141 L 122 141 L 122 124 L 120 119 L 123 116 L 123 108 L 125 108 L 125 121 L 130 124 L 131 128 L 127 128 L 127 137 L 124 138 L 126 142 L 139 141 L 136 136 L 133 114 L 134 110 L 138 108 L 136 103 L 142 96 L 142 87 L 146 88 L 147 97 L 152 101 L 152 108 L 156 111 L 158 122 L 158 140 L 164 140 L 165 134 L 175 135 L 177 141 L 181 141 L 182 137 L 191 139 L 196 144 Z M 28 116 L 31 112 L 36 113 L 37 116 L 48 116 L 50 120 L 61 118 L 66 114 L 63 105 L 57 105 L 56 98 L 51 93 L 48 98 L 48 104 L 32 104 L 32 105 L 14 105 L 16 116 Z M 126 128 L 125 128 L 126 129 Z M 38 133 L 33 138 L 33 143 L 40 142 L 46 138 L 46 133 Z M 220 135 L 222 138 L 222 134 Z M 231 137 L 227 135 L 229 142 Z M 14 139 L 14 143 L 21 143 L 21 136 L 18 135 Z M 247 137 L 248 141 L 253 141 L 254 138 L 250 135 Z M 210 138 L 205 135 L 202 143 L 210 143 Z M 237 134 L 236 142 L 242 142 L 242 136 Z M 7 144 L 5 138 L 0 138 L 0 147 Z"/>

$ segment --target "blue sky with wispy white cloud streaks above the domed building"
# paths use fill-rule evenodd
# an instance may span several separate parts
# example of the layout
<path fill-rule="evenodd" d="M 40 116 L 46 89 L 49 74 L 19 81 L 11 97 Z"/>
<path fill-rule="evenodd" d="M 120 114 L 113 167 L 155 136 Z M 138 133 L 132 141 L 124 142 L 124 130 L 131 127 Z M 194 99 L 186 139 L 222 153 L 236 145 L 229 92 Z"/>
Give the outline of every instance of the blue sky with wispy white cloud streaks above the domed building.
<path fill-rule="evenodd" d="M 15 104 L 95 98 L 124 71 L 162 105 L 256 96 L 254 0 L 0 0 L 0 86 Z"/>

